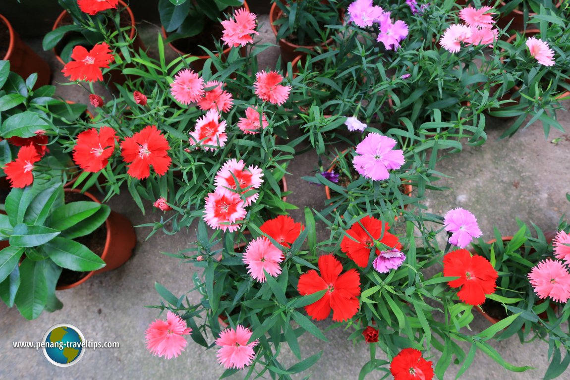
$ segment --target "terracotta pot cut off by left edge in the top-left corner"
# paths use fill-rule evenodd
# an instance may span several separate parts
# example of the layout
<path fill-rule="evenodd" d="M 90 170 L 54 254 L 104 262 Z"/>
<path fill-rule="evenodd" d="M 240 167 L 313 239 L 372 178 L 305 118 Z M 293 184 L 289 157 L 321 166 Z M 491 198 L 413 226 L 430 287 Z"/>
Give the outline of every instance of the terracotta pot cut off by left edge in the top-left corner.
<path fill-rule="evenodd" d="M 17 73 L 24 80 L 32 73 L 38 73 L 38 80 L 36 80 L 34 88 L 50 84 L 51 68 L 47 62 L 22 42 L 10 22 L 2 15 L 0 15 L 0 23 L 5 24 L 10 33 L 8 51 L 2 58 L 2 60 L 10 61 L 10 71 Z"/>

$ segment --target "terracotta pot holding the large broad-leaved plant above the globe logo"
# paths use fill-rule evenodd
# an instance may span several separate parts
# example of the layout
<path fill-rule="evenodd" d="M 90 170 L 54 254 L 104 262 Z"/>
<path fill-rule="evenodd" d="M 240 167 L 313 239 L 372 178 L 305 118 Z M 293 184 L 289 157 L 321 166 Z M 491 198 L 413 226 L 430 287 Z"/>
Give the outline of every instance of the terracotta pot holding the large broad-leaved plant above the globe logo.
<path fill-rule="evenodd" d="M 81 194 L 79 190 L 65 189 L 65 191 L 67 193 Z M 83 193 L 83 195 L 86 195 L 86 197 L 90 198 L 93 202 L 101 203 L 92 194 Z M 111 211 L 111 214 L 109 214 L 109 217 L 105 220 L 105 227 L 107 227 L 107 240 L 105 240 L 105 248 L 101 259 L 103 259 L 107 265 L 101 269 L 97 269 L 97 271 L 87 272 L 85 277 L 75 283 L 58 286 L 56 290 L 75 288 L 83 284 L 94 274 L 119 268 L 131 258 L 133 249 L 137 243 L 135 228 L 133 228 L 131 221 L 125 218 L 125 216 Z"/>

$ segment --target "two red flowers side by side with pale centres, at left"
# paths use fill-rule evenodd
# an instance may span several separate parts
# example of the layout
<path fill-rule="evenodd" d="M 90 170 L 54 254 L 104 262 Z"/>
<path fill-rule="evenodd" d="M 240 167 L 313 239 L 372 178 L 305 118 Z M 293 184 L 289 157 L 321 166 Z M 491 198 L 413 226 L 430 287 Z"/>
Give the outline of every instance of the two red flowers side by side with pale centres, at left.
<path fill-rule="evenodd" d="M 100 171 L 115 152 L 117 140 L 115 130 L 108 126 L 78 134 L 73 154 L 75 163 L 91 173 Z M 123 160 L 131 163 L 127 173 L 138 179 L 149 177 L 151 165 L 157 175 L 164 175 L 172 162 L 168 157 L 169 149 L 168 141 L 154 125 L 146 126 L 121 142 Z"/>

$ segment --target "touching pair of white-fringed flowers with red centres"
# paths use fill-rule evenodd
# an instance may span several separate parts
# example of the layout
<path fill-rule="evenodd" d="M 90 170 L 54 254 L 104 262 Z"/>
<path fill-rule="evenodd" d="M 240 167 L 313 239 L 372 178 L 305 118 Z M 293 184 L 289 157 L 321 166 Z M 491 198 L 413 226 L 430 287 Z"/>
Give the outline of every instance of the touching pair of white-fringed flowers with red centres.
<path fill-rule="evenodd" d="M 261 186 L 261 177 L 259 167 L 246 168 L 243 160 L 228 160 L 215 176 L 214 192 L 206 197 L 204 221 L 212 228 L 236 231 L 247 214 L 245 206 L 257 200 L 258 193 L 254 189 Z"/>

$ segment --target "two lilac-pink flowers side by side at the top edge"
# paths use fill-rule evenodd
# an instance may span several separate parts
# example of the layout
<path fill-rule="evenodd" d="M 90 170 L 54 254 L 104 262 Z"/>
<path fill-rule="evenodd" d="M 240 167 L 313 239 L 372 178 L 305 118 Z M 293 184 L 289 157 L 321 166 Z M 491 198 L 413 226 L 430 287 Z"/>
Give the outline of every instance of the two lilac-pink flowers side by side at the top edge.
<path fill-rule="evenodd" d="M 349 21 L 364 28 L 377 23 L 380 32 L 377 41 L 384 43 L 386 50 L 397 50 L 400 42 L 408 36 L 408 24 L 398 20 L 392 22 L 390 12 L 373 6 L 372 0 L 356 0 L 348 6 Z"/>

